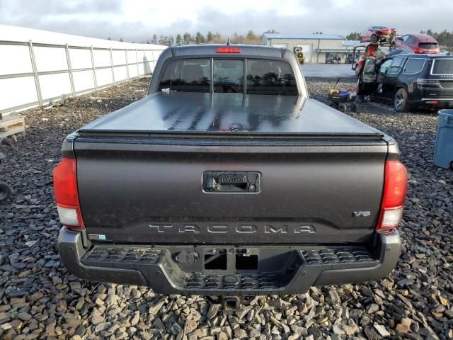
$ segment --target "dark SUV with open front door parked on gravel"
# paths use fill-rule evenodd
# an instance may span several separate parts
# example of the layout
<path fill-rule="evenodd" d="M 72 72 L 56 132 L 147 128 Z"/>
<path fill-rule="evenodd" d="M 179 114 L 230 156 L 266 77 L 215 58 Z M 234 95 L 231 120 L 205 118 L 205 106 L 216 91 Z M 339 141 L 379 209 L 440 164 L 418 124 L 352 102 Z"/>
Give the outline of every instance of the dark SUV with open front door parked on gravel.
<path fill-rule="evenodd" d="M 453 108 L 453 56 L 394 52 L 379 62 L 365 59 L 357 94 L 391 101 L 397 112 Z"/>

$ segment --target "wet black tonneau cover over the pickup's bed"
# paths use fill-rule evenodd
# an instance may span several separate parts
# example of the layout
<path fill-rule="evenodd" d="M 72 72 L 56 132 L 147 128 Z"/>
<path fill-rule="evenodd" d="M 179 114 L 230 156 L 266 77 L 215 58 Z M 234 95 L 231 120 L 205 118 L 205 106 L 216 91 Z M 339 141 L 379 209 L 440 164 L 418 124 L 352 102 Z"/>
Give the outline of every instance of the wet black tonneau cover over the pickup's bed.
<path fill-rule="evenodd" d="M 303 96 L 159 92 L 79 130 L 159 134 L 349 135 L 384 134 Z"/>

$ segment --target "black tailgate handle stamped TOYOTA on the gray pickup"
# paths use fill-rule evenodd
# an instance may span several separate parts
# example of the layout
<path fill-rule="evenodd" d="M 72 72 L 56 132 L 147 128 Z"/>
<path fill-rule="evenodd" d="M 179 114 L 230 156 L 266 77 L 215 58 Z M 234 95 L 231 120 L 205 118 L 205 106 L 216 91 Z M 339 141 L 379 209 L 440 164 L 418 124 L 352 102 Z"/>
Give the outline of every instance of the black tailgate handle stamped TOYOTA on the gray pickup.
<path fill-rule="evenodd" d="M 207 193 L 258 193 L 261 176 L 256 171 L 206 171 L 203 191 Z"/>

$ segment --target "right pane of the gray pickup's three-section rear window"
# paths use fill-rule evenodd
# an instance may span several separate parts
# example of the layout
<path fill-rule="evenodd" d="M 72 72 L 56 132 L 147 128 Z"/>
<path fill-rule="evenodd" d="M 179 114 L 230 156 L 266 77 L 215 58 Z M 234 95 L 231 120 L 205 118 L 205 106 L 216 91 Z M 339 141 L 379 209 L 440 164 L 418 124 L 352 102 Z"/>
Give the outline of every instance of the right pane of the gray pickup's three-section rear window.
<path fill-rule="evenodd" d="M 297 96 L 292 68 L 277 60 L 247 60 L 247 94 Z"/>

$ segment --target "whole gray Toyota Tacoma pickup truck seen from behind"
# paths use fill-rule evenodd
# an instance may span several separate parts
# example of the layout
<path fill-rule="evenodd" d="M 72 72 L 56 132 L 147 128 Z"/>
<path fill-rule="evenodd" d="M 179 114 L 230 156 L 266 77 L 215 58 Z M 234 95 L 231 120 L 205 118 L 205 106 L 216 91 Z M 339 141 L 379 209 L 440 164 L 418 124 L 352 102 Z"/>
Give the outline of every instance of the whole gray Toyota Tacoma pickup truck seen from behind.
<path fill-rule="evenodd" d="M 170 47 L 149 94 L 67 136 L 62 263 L 156 293 L 270 295 L 396 266 L 396 142 L 310 99 L 286 49 Z"/>

